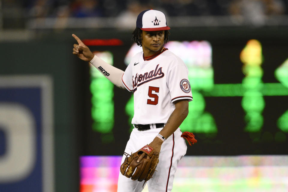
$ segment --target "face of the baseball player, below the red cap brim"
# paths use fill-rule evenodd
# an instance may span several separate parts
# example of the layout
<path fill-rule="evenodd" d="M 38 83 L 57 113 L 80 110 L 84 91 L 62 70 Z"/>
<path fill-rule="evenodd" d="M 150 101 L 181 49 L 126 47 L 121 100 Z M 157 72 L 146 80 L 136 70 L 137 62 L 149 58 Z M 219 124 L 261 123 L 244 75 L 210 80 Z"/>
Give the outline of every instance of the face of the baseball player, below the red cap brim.
<path fill-rule="evenodd" d="M 164 44 L 163 31 L 142 31 L 142 48 L 144 56 L 155 54 Z"/>

